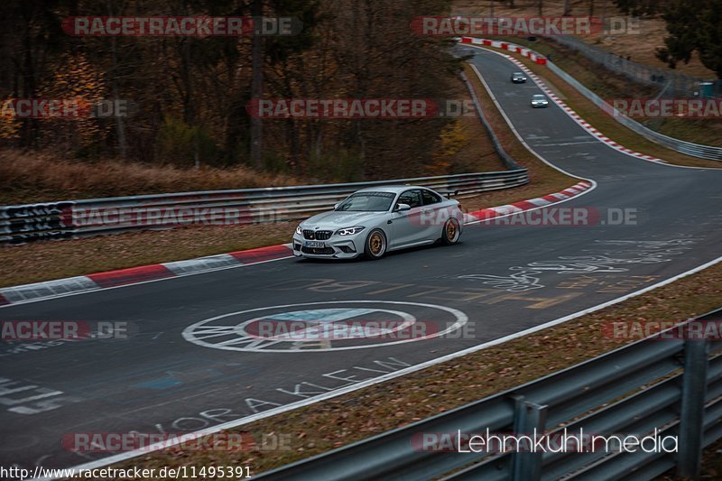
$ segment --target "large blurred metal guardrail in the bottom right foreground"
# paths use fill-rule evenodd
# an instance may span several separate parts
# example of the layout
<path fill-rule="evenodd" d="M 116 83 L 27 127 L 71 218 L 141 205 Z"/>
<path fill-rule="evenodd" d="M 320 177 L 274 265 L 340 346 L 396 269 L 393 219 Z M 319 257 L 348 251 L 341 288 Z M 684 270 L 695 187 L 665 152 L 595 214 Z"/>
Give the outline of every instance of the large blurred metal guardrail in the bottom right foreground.
<path fill-rule="evenodd" d="M 717 326 L 722 310 L 695 326 Z M 688 321 L 687 326 L 690 326 Z M 714 324 L 702 324 L 714 323 Z M 722 341 L 665 334 L 427 420 L 258 476 L 264 479 L 651 479 L 699 474 L 701 449 L 722 438 Z M 690 328 L 690 332 L 693 331 Z M 601 335 L 601 332 L 600 332 Z M 677 436 L 679 452 L 458 452 L 442 436 Z M 558 439 L 558 438 L 557 438 Z M 430 450 L 424 450 L 430 444 Z M 458 441 L 456 441 L 458 442 Z M 454 444 L 456 444 L 454 442 Z M 673 444 L 665 445 L 672 450 Z M 438 452 L 451 447 L 454 452 Z M 462 444 L 463 446 L 463 444 Z M 436 450 L 434 450 L 436 448 Z M 647 444 L 649 448 L 649 444 Z M 468 449 L 468 448 L 466 448 Z M 558 449 L 558 448 L 557 448 Z M 656 452 L 662 451 L 662 452 Z"/>

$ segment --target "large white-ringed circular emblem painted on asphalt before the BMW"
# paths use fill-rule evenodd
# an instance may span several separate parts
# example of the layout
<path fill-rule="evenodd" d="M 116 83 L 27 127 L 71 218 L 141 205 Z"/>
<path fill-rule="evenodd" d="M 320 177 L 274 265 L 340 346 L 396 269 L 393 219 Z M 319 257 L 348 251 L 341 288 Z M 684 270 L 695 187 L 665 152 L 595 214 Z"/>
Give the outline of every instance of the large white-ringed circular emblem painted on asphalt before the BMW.
<path fill-rule="evenodd" d="M 439 338 L 462 328 L 460 310 L 405 301 L 325 301 L 229 312 L 183 330 L 202 347 L 241 352 L 324 352 Z"/>

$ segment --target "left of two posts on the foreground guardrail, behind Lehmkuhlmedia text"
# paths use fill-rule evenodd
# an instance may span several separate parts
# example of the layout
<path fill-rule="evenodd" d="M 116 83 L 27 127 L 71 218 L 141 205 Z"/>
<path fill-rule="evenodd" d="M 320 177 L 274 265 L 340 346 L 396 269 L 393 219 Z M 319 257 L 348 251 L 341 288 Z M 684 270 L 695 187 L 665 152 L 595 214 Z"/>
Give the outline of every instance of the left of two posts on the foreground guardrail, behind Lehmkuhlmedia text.
<path fill-rule="evenodd" d="M 534 440 L 534 435 L 541 436 L 544 433 L 547 421 L 547 406 L 529 402 L 523 396 L 514 396 L 514 435 L 529 436 Z M 532 451 L 532 446 L 529 446 Z M 539 452 L 514 453 L 512 479 L 514 481 L 538 481 L 542 478 L 542 456 Z"/>

